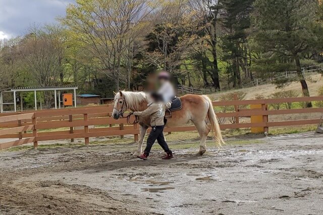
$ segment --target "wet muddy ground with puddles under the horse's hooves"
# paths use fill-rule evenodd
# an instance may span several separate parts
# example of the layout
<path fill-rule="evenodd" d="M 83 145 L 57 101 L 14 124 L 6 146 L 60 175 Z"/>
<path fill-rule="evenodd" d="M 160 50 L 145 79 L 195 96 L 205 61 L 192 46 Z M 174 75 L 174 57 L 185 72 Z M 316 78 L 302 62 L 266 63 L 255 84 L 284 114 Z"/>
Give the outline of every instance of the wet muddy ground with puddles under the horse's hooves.
<path fill-rule="evenodd" d="M 322 214 L 323 135 L 195 145 L 147 161 L 133 144 L 1 151 L 0 214 Z"/>

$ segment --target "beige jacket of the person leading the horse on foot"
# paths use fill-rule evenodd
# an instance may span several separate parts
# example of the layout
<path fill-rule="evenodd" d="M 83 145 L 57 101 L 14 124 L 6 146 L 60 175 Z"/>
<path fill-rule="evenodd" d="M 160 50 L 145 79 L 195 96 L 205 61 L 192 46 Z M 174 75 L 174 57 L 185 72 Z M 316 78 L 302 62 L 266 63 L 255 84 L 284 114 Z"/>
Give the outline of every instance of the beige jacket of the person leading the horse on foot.
<path fill-rule="evenodd" d="M 165 110 L 170 109 L 171 104 L 171 102 L 168 102 L 166 104 L 162 102 L 151 103 L 150 105 L 148 105 L 148 108 L 146 110 L 134 112 L 133 114 L 140 117 L 150 117 L 151 126 L 163 126 Z"/>

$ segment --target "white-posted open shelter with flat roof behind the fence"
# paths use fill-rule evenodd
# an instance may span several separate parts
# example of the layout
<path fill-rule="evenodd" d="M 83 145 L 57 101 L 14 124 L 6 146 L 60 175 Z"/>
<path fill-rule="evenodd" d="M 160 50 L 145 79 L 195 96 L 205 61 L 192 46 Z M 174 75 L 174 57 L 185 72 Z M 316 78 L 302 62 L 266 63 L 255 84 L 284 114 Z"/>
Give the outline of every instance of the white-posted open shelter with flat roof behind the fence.
<path fill-rule="evenodd" d="M 4 105 L 14 104 L 14 112 L 17 112 L 17 92 L 20 92 L 20 101 L 22 103 L 22 94 L 21 92 L 34 92 L 35 96 L 35 110 L 37 111 L 37 91 L 54 91 L 54 97 L 55 97 L 55 109 L 58 107 L 61 108 L 61 91 L 67 91 L 67 90 L 73 90 L 74 91 L 74 106 L 76 107 L 76 90 L 78 89 L 78 86 L 61 86 L 61 87 L 16 87 L 16 88 L 8 88 L 0 90 L 0 108 L 1 113 L 4 112 Z M 13 93 L 14 101 L 13 102 L 3 102 L 3 95 L 4 93 Z M 57 105 L 57 93 L 58 93 L 58 100 L 59 105 Z M 22 110 L 21 105 L 21 111 Z"/>

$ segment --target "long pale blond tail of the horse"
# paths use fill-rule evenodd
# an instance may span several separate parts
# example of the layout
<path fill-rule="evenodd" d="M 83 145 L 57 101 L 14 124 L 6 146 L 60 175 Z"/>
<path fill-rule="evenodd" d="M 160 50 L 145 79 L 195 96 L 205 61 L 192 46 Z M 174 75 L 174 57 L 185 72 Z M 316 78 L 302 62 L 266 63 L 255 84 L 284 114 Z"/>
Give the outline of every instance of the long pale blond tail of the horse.
<path fill-rule="evenodd" d="M 225 144 L 225 142 L 222 138 L 221 129 L 220 129 L 220 125 L 219 125 L 216 113 L 213 110 L 212 101 L 206 95 L 203 95 L 203 98 L 208 102 L 207 116 L 208 116 L 208 120 L 211 123 L 211 130 L 213 132 L 214 138 L 216 138 L 217 145 L 221 146 L 221 144 Z"/>

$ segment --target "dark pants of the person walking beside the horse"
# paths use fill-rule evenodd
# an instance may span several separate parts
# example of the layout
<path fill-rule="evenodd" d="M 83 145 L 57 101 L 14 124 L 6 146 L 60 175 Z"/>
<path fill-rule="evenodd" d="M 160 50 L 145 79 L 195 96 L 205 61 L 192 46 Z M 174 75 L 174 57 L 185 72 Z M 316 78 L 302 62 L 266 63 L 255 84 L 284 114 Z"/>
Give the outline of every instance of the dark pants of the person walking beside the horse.
<path fill-rule="evenodd" d="M 144 152 L 149 155 L 149 152 L 151 150 L 152 145 L 155 143 L 157 140 L 158 144 L 161 146 L 161 148 L 164 149 L 165 152 L 171 153 L 172 151 L 169 149 L 167 142 L 165 141 L 165 137 L 163 134 L 165 126 L 155 126 L 152 127 L 149 136 L 147 138 L 147 146 L 144 150 Z M 155 129 L 154 129 L 155 128 Z"/>

